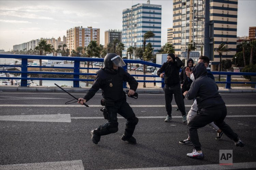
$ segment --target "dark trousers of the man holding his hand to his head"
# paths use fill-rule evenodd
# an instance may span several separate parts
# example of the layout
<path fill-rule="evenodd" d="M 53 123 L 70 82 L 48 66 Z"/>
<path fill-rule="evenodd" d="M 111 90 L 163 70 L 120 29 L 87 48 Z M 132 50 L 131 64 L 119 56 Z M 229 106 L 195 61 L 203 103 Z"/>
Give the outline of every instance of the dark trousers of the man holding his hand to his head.
<path fill-rule="evenodd" d="M 169 116 L 172 114 L 172 96 L 174 94 L 175 102 L 178 106 L 178 108 L 181 111 L 182 116 L 186 115 L 185 111 L 185 104 L 181 93 L 181 85 L 180 83 L 174 86 L 169 87 L 168 85 L 165 85 L 163 88 L 163 91 L 165 91 L 165 108 L 166 112 Z"/>

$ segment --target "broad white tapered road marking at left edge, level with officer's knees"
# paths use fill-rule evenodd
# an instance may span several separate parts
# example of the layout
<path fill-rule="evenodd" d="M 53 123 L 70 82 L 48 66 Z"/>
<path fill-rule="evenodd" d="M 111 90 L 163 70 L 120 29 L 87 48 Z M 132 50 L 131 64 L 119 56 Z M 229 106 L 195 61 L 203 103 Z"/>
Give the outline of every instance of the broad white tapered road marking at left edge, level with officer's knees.
<path fill-rule="evenodd" d="M 0 116 L 0 121 L 26 122 L 71 122 L 70 114 L 57 115 L 6 115 Z"/>

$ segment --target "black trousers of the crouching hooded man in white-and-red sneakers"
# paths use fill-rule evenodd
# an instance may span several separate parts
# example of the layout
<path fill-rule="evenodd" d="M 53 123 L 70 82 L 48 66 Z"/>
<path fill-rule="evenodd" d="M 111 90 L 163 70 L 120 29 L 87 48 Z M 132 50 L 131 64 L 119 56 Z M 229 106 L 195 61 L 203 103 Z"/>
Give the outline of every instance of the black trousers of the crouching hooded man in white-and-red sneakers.
<path fill-rule="evenodd" d="M 226 115 L 227 107 L 225 105 L 218 109 L 198 110 L 197 115 L 187 125 L 190 141 L 193 143 L 196 151 L 201 150 L 197 129 L 202 128 L 211 122 L 214 122 L 214 124 L 216 124 L 227 137 L 234 141 L 238 140 L 238 135 L 233 132 L 227 123 L 224 122 Z"/>

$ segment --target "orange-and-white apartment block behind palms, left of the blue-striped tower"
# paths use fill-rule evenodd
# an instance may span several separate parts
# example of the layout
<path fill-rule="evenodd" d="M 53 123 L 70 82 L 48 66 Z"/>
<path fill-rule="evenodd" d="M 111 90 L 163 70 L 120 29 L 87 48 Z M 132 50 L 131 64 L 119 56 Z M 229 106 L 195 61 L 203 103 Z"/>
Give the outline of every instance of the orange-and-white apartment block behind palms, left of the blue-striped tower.
<path fill-rule="evenodd" d="M 100 29 L 87 27 L 75 27 L 67 30 L 67 48 L 76 50 L 77 47 L 86 47 L 90 41 L 97 41 L 100 44 Z"/>

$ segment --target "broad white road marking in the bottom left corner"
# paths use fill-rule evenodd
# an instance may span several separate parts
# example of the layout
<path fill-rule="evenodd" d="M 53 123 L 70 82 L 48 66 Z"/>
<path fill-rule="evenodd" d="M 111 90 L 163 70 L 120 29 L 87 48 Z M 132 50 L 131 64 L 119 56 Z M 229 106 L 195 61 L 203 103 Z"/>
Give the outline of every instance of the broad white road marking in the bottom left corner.
<path fill-rule="evenodd" d="M 13 165 L 0 165 L 1 170 L 34 170 L 34 169 L 48 169 L 48 170 L 84 170 L 82 160 L 69 160 L 60 162 L 43 162 L 43 163 L 29 163 L 29 164 L 13 164 Z"/>

